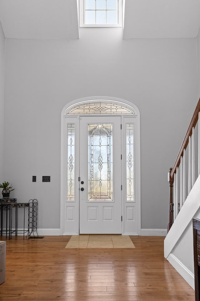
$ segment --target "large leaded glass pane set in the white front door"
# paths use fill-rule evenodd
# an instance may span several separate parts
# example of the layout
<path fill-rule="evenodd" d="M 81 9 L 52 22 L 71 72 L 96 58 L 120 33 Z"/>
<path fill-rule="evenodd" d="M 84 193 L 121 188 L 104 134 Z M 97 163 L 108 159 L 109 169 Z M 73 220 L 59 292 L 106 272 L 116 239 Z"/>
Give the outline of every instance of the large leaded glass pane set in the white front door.
<path fill-rule="evenodd" d="M 88 201 L 113 201 L 113 125 L 88 124 Z"/>

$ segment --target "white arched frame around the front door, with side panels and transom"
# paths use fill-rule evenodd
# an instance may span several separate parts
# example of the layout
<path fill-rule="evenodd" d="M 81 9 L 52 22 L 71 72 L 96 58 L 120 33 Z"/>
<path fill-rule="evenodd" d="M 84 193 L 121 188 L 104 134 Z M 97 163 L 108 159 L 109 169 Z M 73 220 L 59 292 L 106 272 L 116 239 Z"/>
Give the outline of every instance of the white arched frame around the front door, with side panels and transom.
<path fill-rule="evenodd" d="M 107 104 L 108 106 L 105 106 Z M 86 109 L 90 106 L 92 112 L 85 112 L 83 108 Z M 109 111 L 109 106 L 111 110 Z M 107 107 L 107 109 L 105 109 Z M 113 109 L 114 108 L 114 109 Z M 80 111 L 79 111 L 80 109 Z M 121 111 L 120 111 L 121 110 Z M 88 114 L 88 115 L 95 115 L 95 116 L 109 116 L 109 115 L 120 115 L 122 119 L 122 136 L 124 137 L 125 143 L 125 136 L 127 124 L 131 123 L 134 124 L 134 201 L 126 199 L 124 193 L 124 201 L 122 205 L 122 234 L 123 235 L 140 235 L 141 234 L 141 201 L 140 201 L 140 112 L 138 107 L 135 106 L 133 103 L 126 101 L 121 98 L 116 97 L 102 97 L 102 96 L 95 96 L 95 97 L 86 97 L 77 99 L 72 101 L 64 106 L 62 113 L 61 113 L 61 200 L 60 200 L 60 234 L 61 235 L 78 235 L 79 234 L 79 200 L 78 194 L 76 193 L 75 199 L 72 200 L 70 203 L 67 201 L 67 188 L 66 188 L 66 181 L 67 181 L 67 127 L 66 124 L 73 124 L 75 128 L 75 143 L 77 145 L 77 150 L 75 153 L 76 156 L 76 164 L 79 164 L 79 122 L 81 116 Z M 69 128 L 69 127 L 68 127 Z M 70 127 L 71 128 L 71 127 Z M 126 147 L 122 147 L 122 158 L 126 156 Z M 126 160 L 122 161 L 122 165 L 124 162 L 128 164 Z M 76 183 L 76 187 L 78 187 L 78 169 L 76 169 L 76 175 L 74 183 Z M 122 169 L 122 186 L 125 187 L 127 184 L 125 181 L 123 182 L 124 178 L 126 177 L 126 170 L 125 168 Z M 77 189 L 76 189 L 77 190 Z M 78 190 L 77 190 L 78 191 Z M 122 198 L 123 199 L 123 198 Z M 126 200 L 125 200 L 126 199 Z M 135 204 L 137 203 L 137 206 Z M 66 204 L 68 206 L 66 206 Z M 137 208 L 136 208 L 137 207 Z M 66 218 L 67 216 L 67 218 Z M 131 221 L 137 220 L 137 230 L 132 231 L 132 224 Z M 66 220 L 68 221 L 67 225 L 74 226 L 69 229 L 70 227 L 66 226 Z M 66 231 L 66 228 L 69 231 Z"/>

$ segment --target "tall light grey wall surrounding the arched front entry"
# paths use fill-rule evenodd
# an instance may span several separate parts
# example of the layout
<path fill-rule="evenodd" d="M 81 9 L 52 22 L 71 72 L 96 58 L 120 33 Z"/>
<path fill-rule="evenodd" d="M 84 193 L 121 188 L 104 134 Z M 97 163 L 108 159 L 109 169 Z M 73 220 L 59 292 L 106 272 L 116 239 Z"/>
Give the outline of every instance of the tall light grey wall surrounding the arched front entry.
<path fill-rule="evenodd" d="M 87 96 L 138 106 L 142 228 L 167 228 L 167 173 L 197 104 L 196 39 L 123 40 L 119 28 L 82 28 L 79 40 L 8 39 L 5 68 L 3 175 L 12 196 L 38 199 L 38 228 L 59 228 L 60 114 Z"/>

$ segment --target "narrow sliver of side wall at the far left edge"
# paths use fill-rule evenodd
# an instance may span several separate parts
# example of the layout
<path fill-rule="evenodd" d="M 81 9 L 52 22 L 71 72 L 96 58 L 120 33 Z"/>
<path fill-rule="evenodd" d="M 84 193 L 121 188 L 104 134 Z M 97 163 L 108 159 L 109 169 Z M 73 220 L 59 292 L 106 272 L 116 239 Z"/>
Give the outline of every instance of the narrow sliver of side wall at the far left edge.
<path fill-rule="evenodd" d="M 0 22 L 0 183 L 3 181 L 4 53 L 5 38 Z"/>

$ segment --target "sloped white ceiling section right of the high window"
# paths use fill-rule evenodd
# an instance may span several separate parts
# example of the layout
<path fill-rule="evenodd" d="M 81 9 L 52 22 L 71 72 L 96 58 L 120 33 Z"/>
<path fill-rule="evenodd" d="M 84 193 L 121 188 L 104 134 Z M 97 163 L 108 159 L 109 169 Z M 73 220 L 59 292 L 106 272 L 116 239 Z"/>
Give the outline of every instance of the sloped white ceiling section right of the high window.
<path fill-rule="evenodd" d="M 199 0 L 126 0 L 125 39 L 196 38 Z"/>

